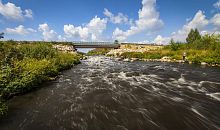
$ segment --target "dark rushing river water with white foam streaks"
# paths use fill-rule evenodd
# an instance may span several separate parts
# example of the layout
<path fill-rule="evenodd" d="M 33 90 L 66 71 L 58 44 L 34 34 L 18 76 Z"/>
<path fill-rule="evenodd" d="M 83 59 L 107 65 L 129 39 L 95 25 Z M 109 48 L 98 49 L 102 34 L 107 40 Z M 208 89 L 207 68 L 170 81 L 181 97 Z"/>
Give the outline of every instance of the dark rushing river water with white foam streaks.
<path fill-rule="evenodd" d="M 220 68 L 90 57 L 8 106 L 1 130 L 219 130 Z"/>

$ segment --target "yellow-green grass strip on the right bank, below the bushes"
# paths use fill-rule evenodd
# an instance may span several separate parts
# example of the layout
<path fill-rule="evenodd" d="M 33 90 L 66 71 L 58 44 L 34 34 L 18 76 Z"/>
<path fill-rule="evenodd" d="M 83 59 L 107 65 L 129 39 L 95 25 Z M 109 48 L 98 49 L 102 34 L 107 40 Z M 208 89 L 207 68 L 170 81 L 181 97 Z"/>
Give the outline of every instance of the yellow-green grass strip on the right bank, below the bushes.
<path fill-rule="evenodd" d="M 172 51 L 167 49 L 155 50 L 151 52 L 125 52 L 122 58 L 138 58 L 138 59 L 161 59 L 164 56 L 170 57 L 172 60 L 182 60 L 183 53 L 186 52 L 189 61 L 200 64 L 206 62 L 208 64 L 220 64 L 220 53 L 212 50 L 178 50 Z"/>

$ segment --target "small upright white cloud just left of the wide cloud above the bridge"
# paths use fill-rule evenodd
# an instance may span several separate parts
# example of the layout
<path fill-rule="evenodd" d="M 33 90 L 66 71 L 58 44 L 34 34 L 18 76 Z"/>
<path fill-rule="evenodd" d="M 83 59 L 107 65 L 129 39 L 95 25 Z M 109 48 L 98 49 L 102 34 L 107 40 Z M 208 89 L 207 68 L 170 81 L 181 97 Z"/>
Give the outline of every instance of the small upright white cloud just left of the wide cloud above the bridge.
<path fill-rule="evenodd" d="M 45 41 L 55 41 L 58 39 L 57 33 L 51 30 L 47 23 L 40 24 L 38 30 L 42 32 Z"/>

